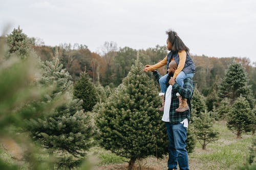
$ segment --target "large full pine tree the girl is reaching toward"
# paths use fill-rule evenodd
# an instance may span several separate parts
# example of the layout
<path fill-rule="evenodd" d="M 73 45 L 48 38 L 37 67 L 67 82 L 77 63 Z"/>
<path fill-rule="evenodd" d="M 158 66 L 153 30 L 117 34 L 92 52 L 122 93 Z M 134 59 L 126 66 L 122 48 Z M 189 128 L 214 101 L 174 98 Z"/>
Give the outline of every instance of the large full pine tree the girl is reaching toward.
<path fill-rule="evenodd" d="M 136 61 L 123 83 L 98 111 L 96 125 L 99 143 L 106 150 L 130 158 L 129 169 L 136 159 L 148 155 L 161 157 L 167 152 L 168 139 L 154 81 L 143 73 Z"/>

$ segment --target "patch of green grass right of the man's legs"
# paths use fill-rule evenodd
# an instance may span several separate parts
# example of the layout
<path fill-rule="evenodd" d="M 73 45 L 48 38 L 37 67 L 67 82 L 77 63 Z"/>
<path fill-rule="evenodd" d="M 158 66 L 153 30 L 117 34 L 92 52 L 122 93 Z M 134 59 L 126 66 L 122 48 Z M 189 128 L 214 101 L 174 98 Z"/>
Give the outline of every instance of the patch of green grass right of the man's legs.
<path fill-rule="evenodd" d="M 225 122 L 216 122 L 214 129 L 220 133 L 219 140 L 209 143 L 206 151 L 203 151 L 197 142 L 195 152 L 189 155 L 192 161 L 199 164 L 195 169 L 231 170 L 243 165 L 249 154 L 248 147 L 251 146 L 252 136 L 244 134 L 242 139 L 237 139 L 236 135 L 227 129 Z"/>

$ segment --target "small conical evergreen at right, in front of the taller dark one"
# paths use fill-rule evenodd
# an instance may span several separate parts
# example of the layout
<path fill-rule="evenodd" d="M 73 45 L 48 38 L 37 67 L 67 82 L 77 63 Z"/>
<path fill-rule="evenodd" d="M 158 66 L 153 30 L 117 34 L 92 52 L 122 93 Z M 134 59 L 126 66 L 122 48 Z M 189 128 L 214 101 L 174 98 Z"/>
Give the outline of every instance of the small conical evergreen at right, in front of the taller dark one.
<path fill-rule="evenodd" d="M 236 133 L 237 138 L 241 138 L 243 132 L 251 131 L 251 125 L 254 123 L 255 115 L 245 98 L 240 96 L 234 101 L 231 110 L 228 113 L 227 127 Z"/>

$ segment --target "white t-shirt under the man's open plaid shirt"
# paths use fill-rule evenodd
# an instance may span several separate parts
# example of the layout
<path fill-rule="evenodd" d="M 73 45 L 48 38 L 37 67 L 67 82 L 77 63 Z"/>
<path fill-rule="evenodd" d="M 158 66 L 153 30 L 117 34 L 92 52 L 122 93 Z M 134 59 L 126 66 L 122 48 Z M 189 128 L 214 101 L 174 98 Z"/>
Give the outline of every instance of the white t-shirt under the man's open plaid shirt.
<path fill-rule="evenodd" d="M 169 85 L 169 87 L 165 92 L 164 110 L 163 110 L 163 116 L 162 116 L 163 122 L 170 122 L 169 111 L 170 111 L 170 103 L 172 102 L 172 89 L 173 89 L 173 86 Z M 183 124 L 183 126 L 187 128 L 188 119 L 185 118 L 184 120 L 182 120 L 181 124 Z"/>

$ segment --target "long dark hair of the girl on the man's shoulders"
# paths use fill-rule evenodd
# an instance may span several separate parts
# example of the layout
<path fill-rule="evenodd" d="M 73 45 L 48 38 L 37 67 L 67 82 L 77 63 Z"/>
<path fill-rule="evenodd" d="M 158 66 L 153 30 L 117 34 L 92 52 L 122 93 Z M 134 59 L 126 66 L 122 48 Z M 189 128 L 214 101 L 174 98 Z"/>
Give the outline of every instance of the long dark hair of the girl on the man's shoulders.
<path fill-rule="evenodd" d="M 189 48 L 183 43 L 183 41 L 180 39 L 175 31 L 168 30 L 166 31 L 166 34 L 168 35 L 168 41 L 172 43 L 172 51 L 180 52 L 182 50 L 185 50 L 186 52 L 189 52 Z"/>

